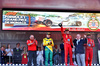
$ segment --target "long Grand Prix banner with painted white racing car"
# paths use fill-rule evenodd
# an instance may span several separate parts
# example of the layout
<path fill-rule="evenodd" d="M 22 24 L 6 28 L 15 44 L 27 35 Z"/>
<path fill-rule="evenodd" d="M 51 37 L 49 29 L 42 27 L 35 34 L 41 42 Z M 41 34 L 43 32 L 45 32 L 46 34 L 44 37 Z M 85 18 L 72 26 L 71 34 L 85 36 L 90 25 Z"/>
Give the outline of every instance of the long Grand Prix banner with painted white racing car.
<path fill-rule="evenodd" d="M 70 31 L 100 31 L 100 13 L 2 10 L 2 30 L 60 31 L 59 23 Z"/>

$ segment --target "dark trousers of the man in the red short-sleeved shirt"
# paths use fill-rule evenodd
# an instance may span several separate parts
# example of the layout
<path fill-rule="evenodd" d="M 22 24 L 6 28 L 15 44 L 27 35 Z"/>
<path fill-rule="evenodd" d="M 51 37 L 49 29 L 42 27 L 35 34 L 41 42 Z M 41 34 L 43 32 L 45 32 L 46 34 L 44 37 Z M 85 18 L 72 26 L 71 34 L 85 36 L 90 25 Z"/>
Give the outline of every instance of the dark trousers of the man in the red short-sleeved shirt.
<path fill-rule="evenodd" d="M 33 64 L 34 66 L 37 66 L 37 62 L 36 62 L 36 58 L 37 58 L 37 55 L 36 55 L 36 51 L 28 51 L 29 54 L 28 54 L 28 57 L 29 57 L 29 61 L 28 61 L 28 66 L 31 66 L 32 64 L 32 59 L 33 59 Z"/>

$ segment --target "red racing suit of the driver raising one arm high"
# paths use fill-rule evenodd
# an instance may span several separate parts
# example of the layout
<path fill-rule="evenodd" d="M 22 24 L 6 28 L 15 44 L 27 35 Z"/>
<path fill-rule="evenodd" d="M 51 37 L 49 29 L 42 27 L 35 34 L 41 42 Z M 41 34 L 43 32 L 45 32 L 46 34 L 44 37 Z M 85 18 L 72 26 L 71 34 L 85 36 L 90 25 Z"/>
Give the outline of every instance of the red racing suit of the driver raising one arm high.
<path fill-rule="evenodd" d="M 68 52 L 69 52 L 70 65 L 73 65 L 72 47 L 71 47 L 71 46 L 73 46 L 72 37 L 71 37 L 71 35 L 64 33 L 63 27 L 61 27 L 61 33 L 62 33 L 62 37 L 63 37 L 63 41 L 64 41 L 65 64 L 67 65 L 67 56 L 68 56 Z"/>

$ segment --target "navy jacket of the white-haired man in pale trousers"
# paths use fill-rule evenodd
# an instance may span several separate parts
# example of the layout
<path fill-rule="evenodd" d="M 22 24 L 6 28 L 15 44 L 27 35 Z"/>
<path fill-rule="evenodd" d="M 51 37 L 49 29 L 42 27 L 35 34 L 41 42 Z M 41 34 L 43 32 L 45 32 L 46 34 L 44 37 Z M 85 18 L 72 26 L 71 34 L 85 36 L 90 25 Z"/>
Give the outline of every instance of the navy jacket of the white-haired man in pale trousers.
<path fill-rule="evenodd" d="M 80 39 L 80 41 L 77 44 L 77 39 L 73 40 L 74 46 L 75 46 L 75 53 L 84 54 L 84 44 L 87 42 L 87 39 Z"/>

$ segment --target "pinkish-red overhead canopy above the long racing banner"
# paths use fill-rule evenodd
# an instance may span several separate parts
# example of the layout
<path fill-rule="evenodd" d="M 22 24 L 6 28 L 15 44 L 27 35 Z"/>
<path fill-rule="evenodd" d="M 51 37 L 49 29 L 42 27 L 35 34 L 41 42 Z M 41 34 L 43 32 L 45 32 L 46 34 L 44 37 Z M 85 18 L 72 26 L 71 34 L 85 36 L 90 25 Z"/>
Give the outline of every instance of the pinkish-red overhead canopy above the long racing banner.
<path fill-rule="evenodd" d="M 100 0 L 0 0 L 0 8 L 100 10 Z"/>

